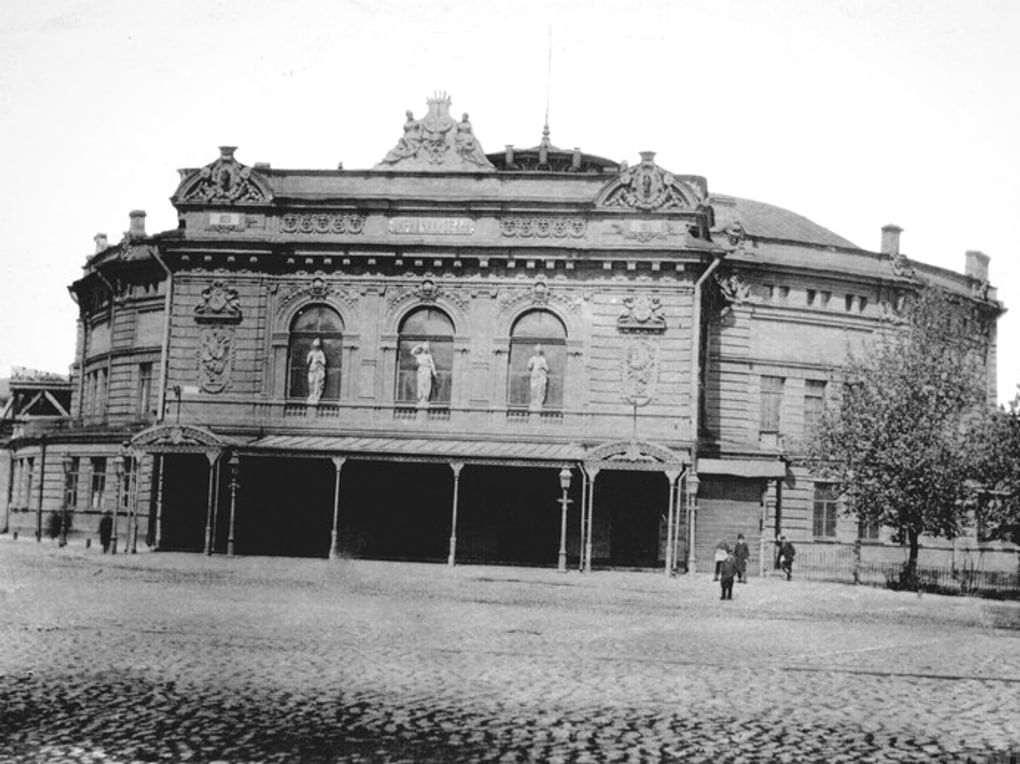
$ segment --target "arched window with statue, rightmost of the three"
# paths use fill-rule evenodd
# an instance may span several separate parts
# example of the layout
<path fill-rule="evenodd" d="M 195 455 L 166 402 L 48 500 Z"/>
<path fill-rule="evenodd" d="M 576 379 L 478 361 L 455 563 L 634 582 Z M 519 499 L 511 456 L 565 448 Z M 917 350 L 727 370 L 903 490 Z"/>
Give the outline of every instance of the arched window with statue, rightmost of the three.
<path fill-rule="evenodd" d="M 563 408 L 567 330 L 548 310 L 524 313 L 510 330 L 509 404 Z"/>

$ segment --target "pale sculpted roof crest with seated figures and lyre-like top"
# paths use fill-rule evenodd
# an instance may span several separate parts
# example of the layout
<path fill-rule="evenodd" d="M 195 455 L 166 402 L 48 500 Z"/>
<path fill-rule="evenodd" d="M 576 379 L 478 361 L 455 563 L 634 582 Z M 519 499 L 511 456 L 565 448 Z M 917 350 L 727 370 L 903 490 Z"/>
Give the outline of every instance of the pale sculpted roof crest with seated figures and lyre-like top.
<path fill-rule="evenodd" d="M 437 93 L 420 119 L 408 109 L 404 135 L 375 169 L 494 172 L 467 114 L 459 122 L 450 116 L 451 102 L 446 93 Z"/>

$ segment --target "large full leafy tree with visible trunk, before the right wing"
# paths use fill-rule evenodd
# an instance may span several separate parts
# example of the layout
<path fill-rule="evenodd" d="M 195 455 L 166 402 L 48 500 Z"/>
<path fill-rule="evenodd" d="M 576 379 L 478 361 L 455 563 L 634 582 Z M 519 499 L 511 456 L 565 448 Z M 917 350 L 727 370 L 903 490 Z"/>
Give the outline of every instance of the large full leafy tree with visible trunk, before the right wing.
<path fill-rule="evenodd" d="M 843 369 L 844 394 L 807 445 L 814 474 L 845 509 L 898 528 L 916 583 L 919 538 L 953 538 L 966 520 L 968 436 L 984 406 L 986 323 L 936 288 L 910 297 Z"/>

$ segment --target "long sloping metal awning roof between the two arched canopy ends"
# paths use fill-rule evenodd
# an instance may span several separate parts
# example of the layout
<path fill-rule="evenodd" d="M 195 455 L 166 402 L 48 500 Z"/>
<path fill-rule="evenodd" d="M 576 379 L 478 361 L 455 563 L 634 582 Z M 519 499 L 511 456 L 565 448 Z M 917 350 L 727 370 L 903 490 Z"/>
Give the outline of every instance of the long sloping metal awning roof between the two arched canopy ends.
<path fill-rule="evenodd" d="M 355 438 L 329 436 L 265 436 L 242 449 L 244 454 L 270 456 L 350 456 L 394 461 L 462 461 L 469 464 L 556 466 L 583 459 L 574 444 L 527 441 L 469 441 L 439 438 Z"/>

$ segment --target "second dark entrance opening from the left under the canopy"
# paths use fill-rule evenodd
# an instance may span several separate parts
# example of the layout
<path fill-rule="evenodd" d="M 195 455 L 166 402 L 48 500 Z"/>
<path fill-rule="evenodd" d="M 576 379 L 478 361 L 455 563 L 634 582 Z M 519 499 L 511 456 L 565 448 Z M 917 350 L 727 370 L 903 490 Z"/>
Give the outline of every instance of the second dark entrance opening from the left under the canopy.
<path fill-rule="evenodd" d="M 228 467 L 223 466 L 223 478 Z M 336 469 L 329 459 L 241 460 L 235 551 L 245 555 L 327 557 Z M 230 524 L 230 492 L 219 502 L 217 544 Z"/>

